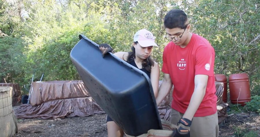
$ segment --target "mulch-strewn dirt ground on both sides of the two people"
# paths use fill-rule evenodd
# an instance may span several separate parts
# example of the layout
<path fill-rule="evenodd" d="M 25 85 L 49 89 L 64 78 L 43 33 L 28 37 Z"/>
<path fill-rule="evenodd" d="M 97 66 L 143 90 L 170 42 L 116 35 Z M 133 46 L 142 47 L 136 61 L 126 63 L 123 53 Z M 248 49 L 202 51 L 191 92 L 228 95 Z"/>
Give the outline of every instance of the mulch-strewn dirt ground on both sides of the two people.
<path fill-rule="evenodd" d="M 15 109 L 16 106 L 13 106 Z M 105 137 L 107 136 L 106 114 L 89 117 L 66 117 L 65 119 L 17 119 L 16 137 Z M 258 114 L 230 114 L 220 127 L 220 137 L 235 137 L 238 131 L 255 131 L 260 136 Z M 254 136 L 256 137 L 256 136 Z"/>

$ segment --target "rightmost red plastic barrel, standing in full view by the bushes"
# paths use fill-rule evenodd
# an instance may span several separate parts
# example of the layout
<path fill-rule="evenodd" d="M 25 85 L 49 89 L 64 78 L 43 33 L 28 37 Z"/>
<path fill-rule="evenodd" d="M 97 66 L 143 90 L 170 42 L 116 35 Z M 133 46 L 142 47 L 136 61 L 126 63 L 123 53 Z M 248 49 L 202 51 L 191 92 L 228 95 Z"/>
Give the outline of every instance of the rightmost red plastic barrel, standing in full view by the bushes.
<path fill-rule="evenodd" d="M 229 76 L 229 92 L 232 104 L 245 105 L 250 99 L 249 78 L 246 73 L 231 74 Z"/>

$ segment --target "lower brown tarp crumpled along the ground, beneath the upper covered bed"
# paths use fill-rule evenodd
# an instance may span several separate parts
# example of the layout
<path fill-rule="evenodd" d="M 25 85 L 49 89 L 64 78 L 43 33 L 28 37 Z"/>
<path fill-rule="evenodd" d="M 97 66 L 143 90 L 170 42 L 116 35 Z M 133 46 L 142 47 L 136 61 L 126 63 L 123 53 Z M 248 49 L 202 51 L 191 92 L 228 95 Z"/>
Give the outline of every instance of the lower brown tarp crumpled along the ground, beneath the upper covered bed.
<path fill-rule="evenodd" d="M 19 119 L 86 117 L 93 114 L 105 113 L 92 97 L 52 100 L 38 106 L 22 104 L 14 112 Z"/>

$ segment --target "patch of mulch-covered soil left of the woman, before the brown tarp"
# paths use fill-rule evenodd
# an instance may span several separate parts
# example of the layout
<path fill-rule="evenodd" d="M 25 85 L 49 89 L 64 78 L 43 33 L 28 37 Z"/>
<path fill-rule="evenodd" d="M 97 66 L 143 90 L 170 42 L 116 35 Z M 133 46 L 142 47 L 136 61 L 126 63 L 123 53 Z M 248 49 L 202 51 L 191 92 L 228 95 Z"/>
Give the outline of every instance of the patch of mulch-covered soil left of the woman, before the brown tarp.
<path fill-rule="evenodd" d="M 106 115 L 66 117 L 65 119 L 18 119 L 18 134 L 26 137 L 105 137 Z"/>

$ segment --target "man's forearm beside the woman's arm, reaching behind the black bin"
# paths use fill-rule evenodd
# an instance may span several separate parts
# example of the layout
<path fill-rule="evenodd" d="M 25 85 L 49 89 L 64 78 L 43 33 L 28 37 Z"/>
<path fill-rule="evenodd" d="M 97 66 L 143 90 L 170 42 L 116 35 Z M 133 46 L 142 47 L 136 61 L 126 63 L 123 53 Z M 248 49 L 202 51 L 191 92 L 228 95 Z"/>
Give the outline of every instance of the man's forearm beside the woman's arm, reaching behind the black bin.
<path fill-rule="evenodd" d="M 163 81 L 159 87 L 158 96 L 156 98 L 156 104 L 159 106 L 161 101 L 169 94 L 172 89 L 172 83 Z"/>

